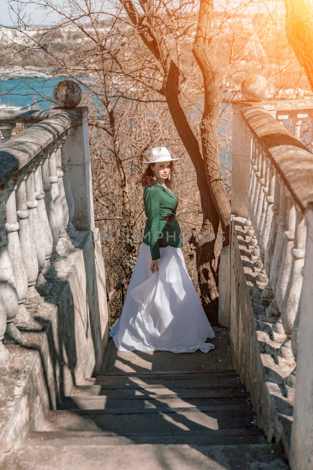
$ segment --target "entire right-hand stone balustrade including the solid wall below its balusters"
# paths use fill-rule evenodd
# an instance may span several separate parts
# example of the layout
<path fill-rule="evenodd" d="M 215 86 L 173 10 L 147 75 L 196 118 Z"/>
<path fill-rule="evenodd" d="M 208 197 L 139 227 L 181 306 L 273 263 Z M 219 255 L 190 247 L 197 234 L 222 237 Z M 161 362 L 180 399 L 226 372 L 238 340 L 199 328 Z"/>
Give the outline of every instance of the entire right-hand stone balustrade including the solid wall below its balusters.
<path fill-rule="evenodd" d="M 304 469 L 312 458 L 313 101 L 232 106 L 229 314 L 221 318 L 260 425 L 282 440 L 292 468 Z"/>

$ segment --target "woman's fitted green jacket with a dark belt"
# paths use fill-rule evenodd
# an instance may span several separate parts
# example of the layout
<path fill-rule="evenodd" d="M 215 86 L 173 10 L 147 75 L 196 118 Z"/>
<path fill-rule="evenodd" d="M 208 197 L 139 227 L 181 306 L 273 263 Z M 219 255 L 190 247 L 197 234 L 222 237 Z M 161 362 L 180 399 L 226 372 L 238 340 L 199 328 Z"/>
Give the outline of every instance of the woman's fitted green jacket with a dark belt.
<path fill-rule="evenodd" d="M 176 215 L 178 199 L 174 193 L 157 181 L 157 186 L 146 186 L 144 189 L 145 230 L 143 243 L 150 246 L 152 259 L 160 258 L 160 248 L 168 245 L 182 248 L 181 229 L 177 220 L 167 222 L 160 220 L 168 215 Z M 150 235 L 150 236 L 149 236 Z M 160 238 L 158 238 L 160 236 Z"/>

